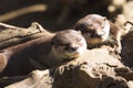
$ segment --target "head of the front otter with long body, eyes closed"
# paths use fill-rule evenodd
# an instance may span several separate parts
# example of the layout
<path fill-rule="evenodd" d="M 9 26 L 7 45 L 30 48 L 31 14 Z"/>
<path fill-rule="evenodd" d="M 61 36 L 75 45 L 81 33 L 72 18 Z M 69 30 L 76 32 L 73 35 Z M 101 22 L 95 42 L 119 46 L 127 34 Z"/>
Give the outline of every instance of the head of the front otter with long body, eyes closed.
<path fill-rule="evenodd" d="M 78 31 L 61 31 L 52 38 L 52 52 L 59 58 L 75 58 L 85 50 L 86 42 Z"/>

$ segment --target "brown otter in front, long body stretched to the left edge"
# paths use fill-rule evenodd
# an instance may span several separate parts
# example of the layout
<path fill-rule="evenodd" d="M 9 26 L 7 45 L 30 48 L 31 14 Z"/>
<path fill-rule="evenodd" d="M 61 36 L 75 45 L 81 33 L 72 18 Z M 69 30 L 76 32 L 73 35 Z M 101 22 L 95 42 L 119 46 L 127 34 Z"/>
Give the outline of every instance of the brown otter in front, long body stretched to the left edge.
<path fill-rule="evenodd" d="M 81 56 L 85 50 L 85 38 L 78 31 L 70 29 L 51 33 L 2 50 L 7 66 L 2 68 L 0 77 L 27 75 L 33 69 L 40 69 L 39 65 L 43 67 L 41 69 L 53 68 Z"/>

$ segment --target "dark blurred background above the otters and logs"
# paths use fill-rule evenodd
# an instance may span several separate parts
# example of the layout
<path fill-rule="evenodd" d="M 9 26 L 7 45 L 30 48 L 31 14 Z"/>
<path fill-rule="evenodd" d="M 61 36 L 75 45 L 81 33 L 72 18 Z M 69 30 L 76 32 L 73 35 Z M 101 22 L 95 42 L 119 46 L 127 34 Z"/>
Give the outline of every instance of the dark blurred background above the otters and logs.
<path fill-rule="evenodd" d="M 133 0 L 0 0 L 0 21 L 28 28 L 39 22 L 44 29 L 60 31 L 90 13 L 114 20 L 120 13 L 132 19 Z"/>

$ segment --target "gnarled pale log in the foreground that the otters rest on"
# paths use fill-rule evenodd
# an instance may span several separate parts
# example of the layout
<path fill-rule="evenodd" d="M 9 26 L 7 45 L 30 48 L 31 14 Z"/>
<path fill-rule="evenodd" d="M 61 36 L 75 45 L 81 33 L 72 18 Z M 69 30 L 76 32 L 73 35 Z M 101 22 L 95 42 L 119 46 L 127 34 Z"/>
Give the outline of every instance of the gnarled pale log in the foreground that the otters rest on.
<path fill-rule="evenodd" d="M 34 70 L 28 78 L 6 88 L 132 88 L 133 81 L 115 72 L 122 67 L 124 65 L 105 48 L 95 48 L 54 70 Z"/>

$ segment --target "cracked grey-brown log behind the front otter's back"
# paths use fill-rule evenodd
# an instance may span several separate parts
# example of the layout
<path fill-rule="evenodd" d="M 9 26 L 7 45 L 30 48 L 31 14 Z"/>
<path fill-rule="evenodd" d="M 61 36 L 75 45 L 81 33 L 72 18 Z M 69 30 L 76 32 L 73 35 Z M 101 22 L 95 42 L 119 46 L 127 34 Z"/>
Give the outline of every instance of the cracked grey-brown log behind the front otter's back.
<path fill-rule="evenodd" d="M 0 50 L 45 35 L 47 31 L 37 22 L 28 29 L 0 23 Z"/>

